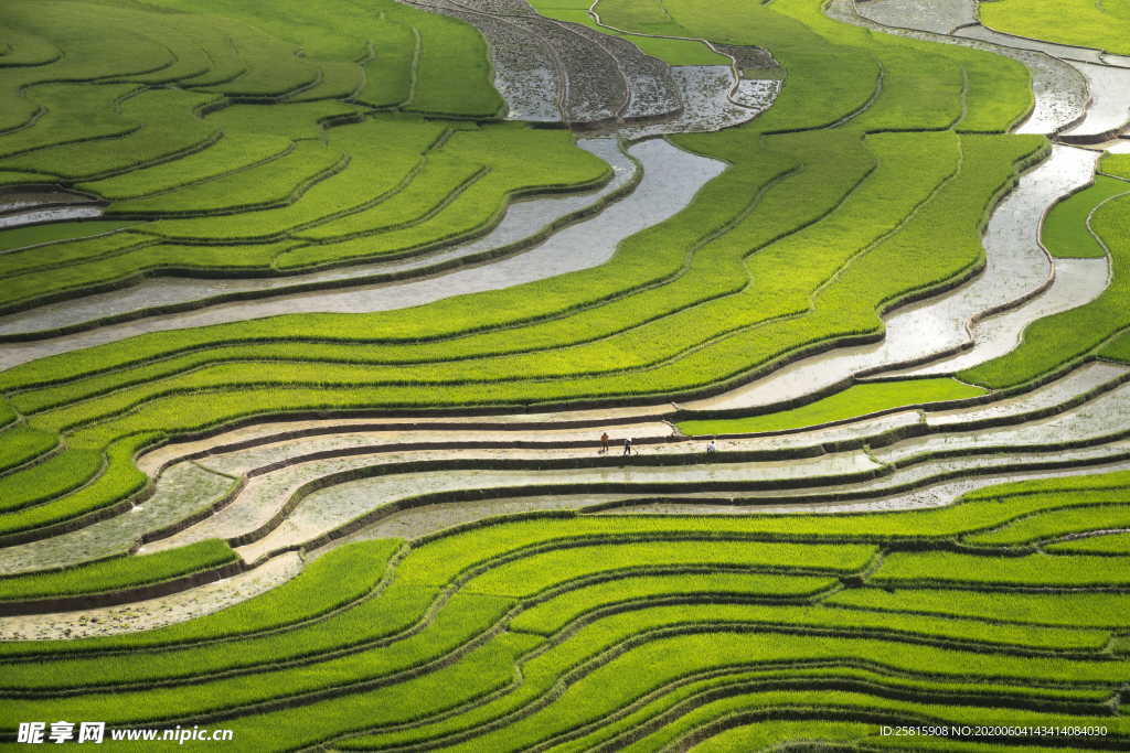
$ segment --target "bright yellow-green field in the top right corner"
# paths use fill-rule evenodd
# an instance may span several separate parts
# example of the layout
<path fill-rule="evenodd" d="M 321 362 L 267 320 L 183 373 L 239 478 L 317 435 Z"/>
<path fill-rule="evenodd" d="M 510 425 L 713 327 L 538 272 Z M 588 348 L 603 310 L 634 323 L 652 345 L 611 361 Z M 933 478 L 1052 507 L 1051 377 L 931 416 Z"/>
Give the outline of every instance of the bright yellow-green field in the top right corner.
<path fill-rule="evenodd" d="M 1130 54 L 1130 8 L 1124 2 L 1001 0 L 982 6 L 980 16 L 985 26 L 1006 34 Z"/>

